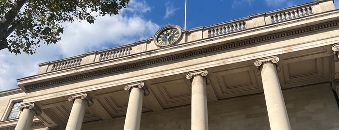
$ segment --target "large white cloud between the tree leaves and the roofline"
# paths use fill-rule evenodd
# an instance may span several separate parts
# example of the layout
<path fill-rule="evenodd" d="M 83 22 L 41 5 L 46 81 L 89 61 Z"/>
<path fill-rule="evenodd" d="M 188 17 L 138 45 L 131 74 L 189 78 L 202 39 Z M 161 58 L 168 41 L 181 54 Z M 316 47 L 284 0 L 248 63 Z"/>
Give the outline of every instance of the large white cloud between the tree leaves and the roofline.
<path fill-rule="evenodd" d="M 149 38 L 160 28 L 143 14 L 150 11 L 144 1 L 131 0 L 117 16 L 97 17 L 94 24 L 73 22 L 55 45 L 41 46 L 33 55 L 14 55 L 0 50 L 0 91 L 17 88 L 16 79 L 35 75 L 39 63 L 107 49 Z"/>

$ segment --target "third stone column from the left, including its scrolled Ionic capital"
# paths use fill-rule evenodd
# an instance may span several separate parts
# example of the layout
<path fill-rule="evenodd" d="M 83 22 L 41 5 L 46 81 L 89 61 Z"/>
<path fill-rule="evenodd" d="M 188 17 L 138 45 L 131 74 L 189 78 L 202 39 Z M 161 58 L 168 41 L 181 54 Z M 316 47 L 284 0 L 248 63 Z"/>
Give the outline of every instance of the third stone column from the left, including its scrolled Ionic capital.
<path fill-rule="evenodd" d="M 144 96 L 149 94 L 144 85 L 144 82 L 138 81 L 125 86 L 125 90 L 129 91 L 129 104 L 127 106 L 124 130 L 140 130 L 143 94 Z"/>

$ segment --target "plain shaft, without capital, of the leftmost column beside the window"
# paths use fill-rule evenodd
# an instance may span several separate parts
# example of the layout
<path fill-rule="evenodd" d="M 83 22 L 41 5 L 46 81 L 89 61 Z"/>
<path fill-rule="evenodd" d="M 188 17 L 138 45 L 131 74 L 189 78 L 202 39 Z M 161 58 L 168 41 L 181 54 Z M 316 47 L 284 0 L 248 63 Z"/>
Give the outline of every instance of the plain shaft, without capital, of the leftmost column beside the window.
<path fill-rule="evenodd" d="M 35 112 L 32 109 L 23 109 L 15 130 L 31 130 Z"/>

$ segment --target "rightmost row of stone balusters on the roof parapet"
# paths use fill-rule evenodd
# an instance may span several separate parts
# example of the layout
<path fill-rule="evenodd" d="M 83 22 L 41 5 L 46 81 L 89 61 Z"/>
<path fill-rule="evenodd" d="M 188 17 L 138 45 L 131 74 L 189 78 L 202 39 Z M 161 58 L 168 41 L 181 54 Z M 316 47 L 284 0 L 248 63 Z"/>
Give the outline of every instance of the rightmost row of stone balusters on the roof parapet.
<path fill-rule="evenodd" d="M 312 7 L 308 6 L 300 9 L 294 9 L 287 12 L 281 12 L 278 14 L 271 15 L 271 21 L 272 23 L 282 22 L 298 17 L 309 16 L 312 14 L 313 14 Z"/>

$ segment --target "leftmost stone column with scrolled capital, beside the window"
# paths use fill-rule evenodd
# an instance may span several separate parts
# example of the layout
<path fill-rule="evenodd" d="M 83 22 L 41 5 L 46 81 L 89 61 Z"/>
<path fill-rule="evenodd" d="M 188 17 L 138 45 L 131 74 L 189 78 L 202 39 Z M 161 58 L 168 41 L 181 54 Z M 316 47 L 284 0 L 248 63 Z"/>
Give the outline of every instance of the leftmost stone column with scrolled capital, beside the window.
<path fill-rule="evenodd" d="M 16 124 L 15 130 L 31 130 L 34 115 L 40 115 L 41 110 L 35 106 L 34 103 L 21 104 L 18 110 L 22 111 L 22 113 L 20 115 L 19 121 Z"/>

